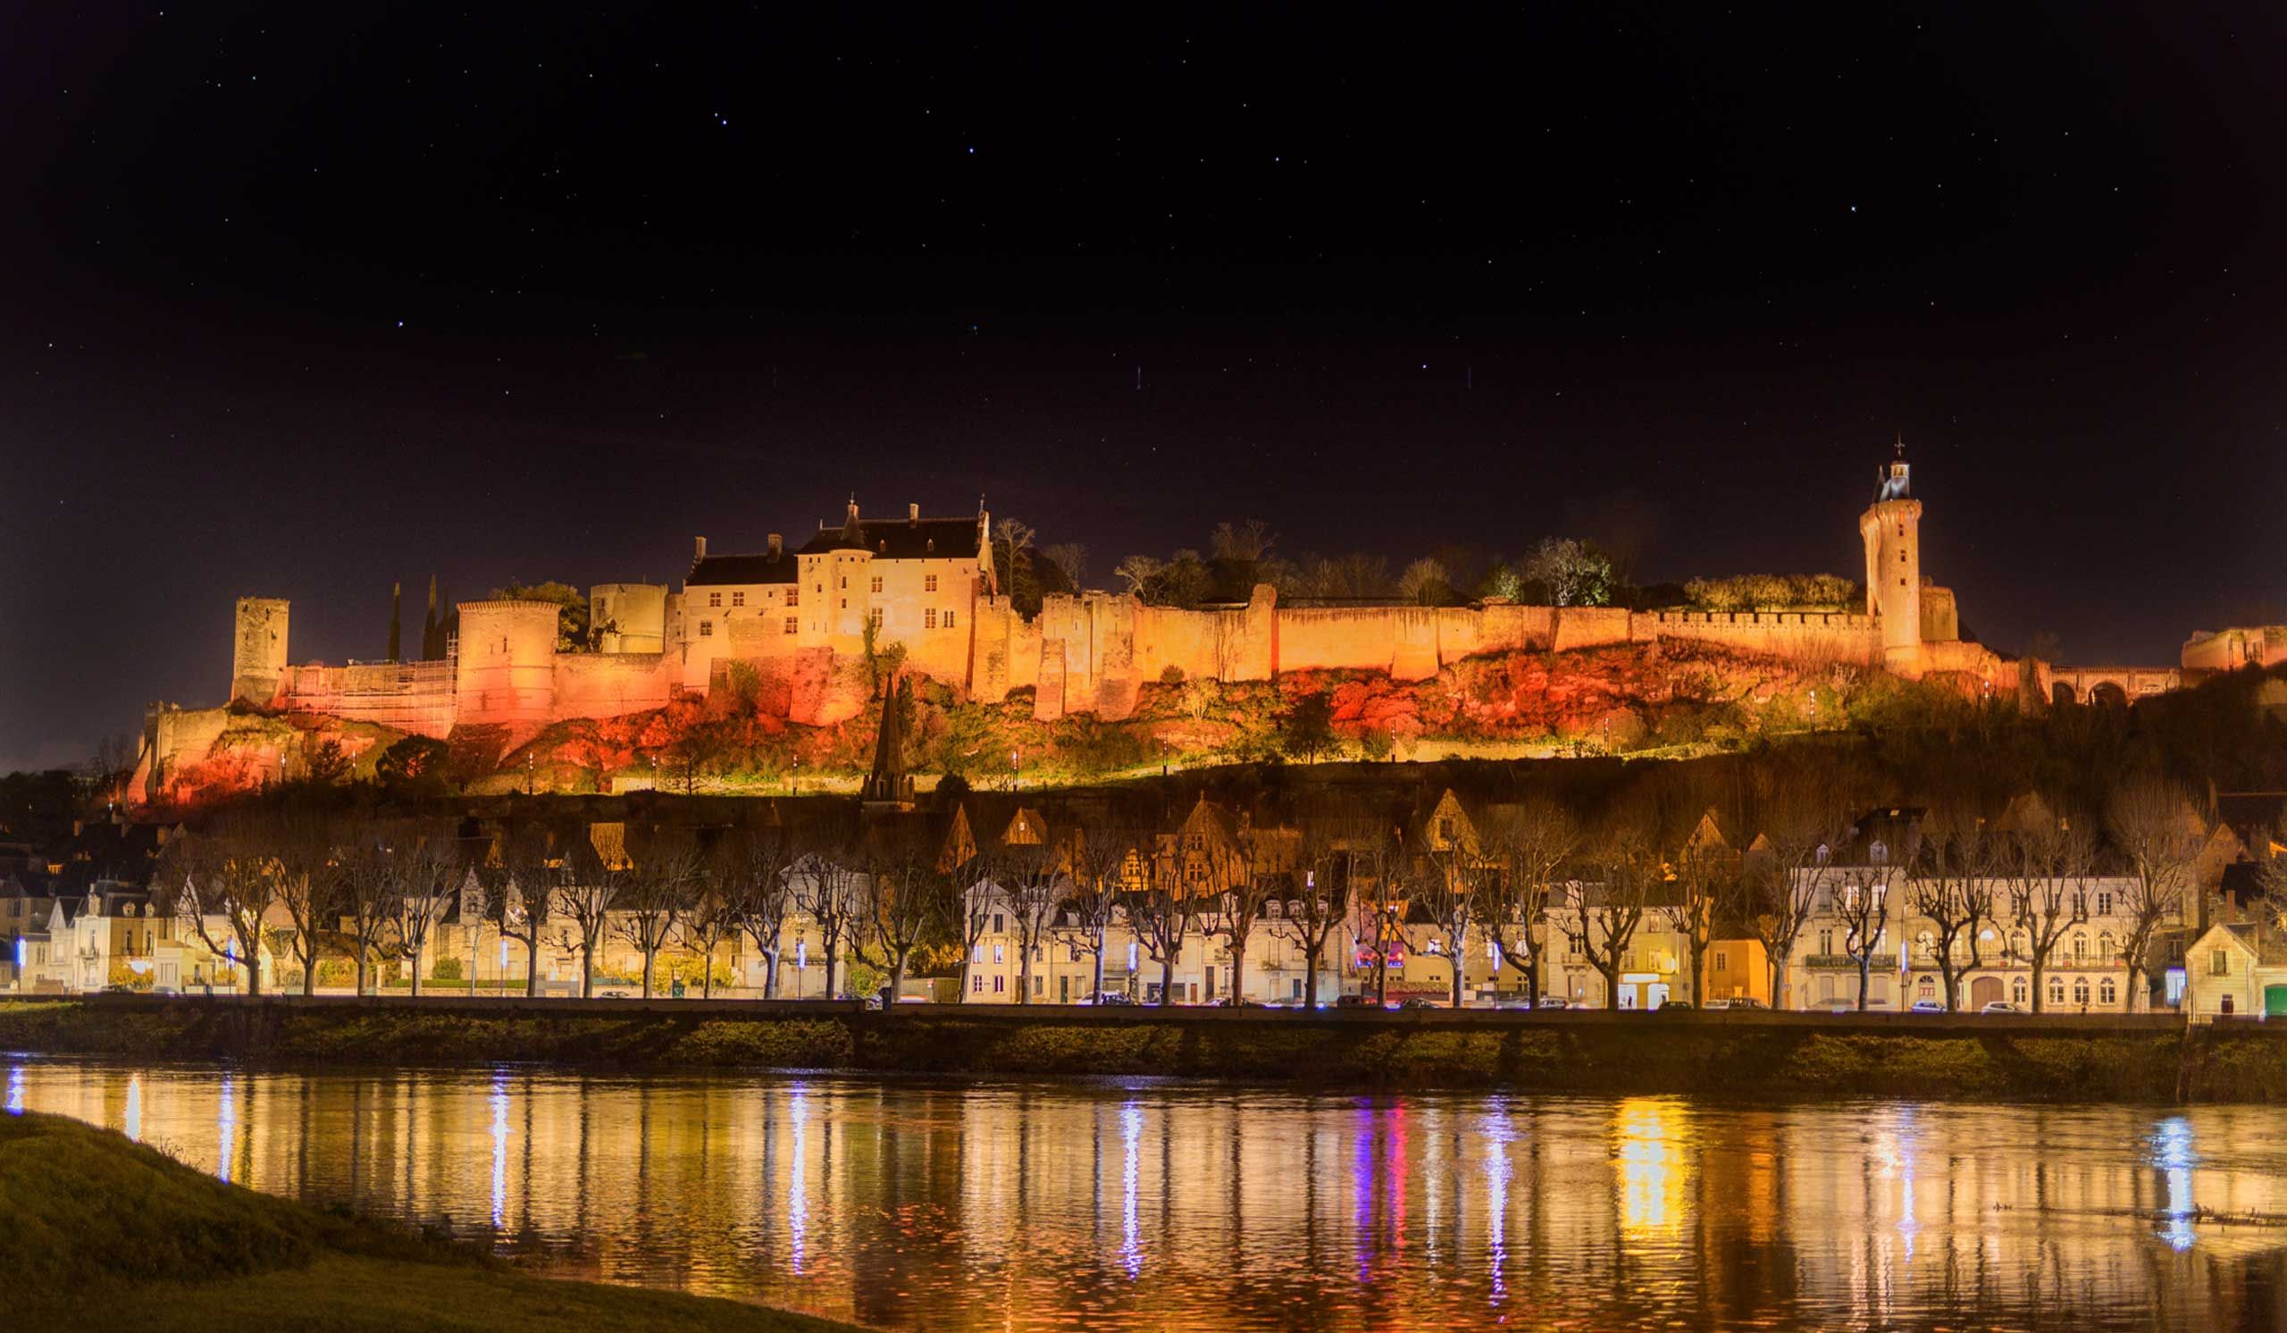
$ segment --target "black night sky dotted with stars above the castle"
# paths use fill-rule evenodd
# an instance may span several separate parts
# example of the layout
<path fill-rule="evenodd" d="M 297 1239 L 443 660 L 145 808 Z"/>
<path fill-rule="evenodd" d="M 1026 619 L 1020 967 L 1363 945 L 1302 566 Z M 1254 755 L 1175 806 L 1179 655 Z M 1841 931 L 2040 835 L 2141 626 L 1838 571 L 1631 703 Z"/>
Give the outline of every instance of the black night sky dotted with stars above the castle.
<path fill-rule="evenodd" d="M 0 11 L 0 768 L 851 489 L 1857 574 L 1905 432 L 1997 647 L 2287 617 L 2266 7 L 647 9 Z"/>

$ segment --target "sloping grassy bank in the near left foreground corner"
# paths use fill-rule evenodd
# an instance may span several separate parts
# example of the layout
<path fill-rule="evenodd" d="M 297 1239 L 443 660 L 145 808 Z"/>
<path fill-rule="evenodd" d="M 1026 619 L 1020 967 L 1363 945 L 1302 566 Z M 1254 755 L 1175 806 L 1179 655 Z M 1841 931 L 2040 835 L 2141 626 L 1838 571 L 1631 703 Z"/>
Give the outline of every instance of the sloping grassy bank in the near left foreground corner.
<path fill-rule="evenodd" d="M 0 1219 L 16 1328 L 848 1328 L 736 1301 L 535 1278 L 469 1246 L 224 1184 L 62 1116 L 0 1116 Z"/>

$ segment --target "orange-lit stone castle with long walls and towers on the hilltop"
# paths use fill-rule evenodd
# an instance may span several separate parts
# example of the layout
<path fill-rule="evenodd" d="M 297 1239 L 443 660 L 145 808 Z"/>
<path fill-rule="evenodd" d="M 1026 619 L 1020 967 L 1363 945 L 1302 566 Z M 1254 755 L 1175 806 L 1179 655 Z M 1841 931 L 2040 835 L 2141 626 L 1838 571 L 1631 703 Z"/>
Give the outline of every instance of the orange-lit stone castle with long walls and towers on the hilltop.
<path fill-rule="evenodd" d="M 1139 688 L 1185 679 L 1267 681 L 1288 672 L 1374 672 L 1418 681 L 1471 656 L 1610 645 L 1708 642 L 1804 665 L 1848 663 L 1900 677 L 1951 675 L 2008 693 L 2019 663 L 1960 638 L 1953 592 L 1921 572 L 1921 501 L 1905 448 L 1878 469 L 1859 517 L 1866 556 L 1862 613 L 1626 610 L 1610 606 L 1281 606 L 1269 585 L 1246 604 L 1198 610 L 1146 606 L 1121 592 L 1052 594 L 1025 617 L 995 583 L 990 514 L 819 524 L 800 546 L 771 533 L 762 549 L 711 551 L 698 537 L 682 588 L 599 583 L 588 594 L 595 647 L 558 649 L 553 601 L 462 601 L 444 661 L 290 665 L 288 604 L 238 601 L 231 700 L 284 713 L 375 723 L 446 736 L 455 727 L 528 734 L 567 718 L 659 709 L 732 684 L 762 711 L 832 725 L 869 702 L 869 654 L 899 654 L 974 702 L 1031 691 L 1036 718 L 1127 718 Z M 2260 631 L 2202 647 L 2207 658 L 2260 658 Z M 2186 649 L 2189 652 L 2189 649 Z M 2189 661 L 2189 658 L 2186 658 Z M 2106 681 L 2125 695 L 2173 688 L 2177 672 L 2031 665 L 2031 686 L 2074 697 Z M 222 709 L 153 713 L 146 775 L 197 759 L 220 736 Z"/>

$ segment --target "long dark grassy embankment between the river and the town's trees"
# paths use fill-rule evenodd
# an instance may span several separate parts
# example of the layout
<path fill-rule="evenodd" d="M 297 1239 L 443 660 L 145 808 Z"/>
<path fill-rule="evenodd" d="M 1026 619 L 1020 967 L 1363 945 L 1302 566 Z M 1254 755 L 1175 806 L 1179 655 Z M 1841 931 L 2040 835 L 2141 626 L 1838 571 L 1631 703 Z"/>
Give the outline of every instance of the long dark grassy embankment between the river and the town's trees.
<path fill-rule="evenodd" d="M 766 1011 L 693 1001 L 23 1001 L 0 1049 L 375 1065 L 1173 1075 L 1320 1088 L 2269 1102 L 2287 1031 L 2157 1017 Z"/>

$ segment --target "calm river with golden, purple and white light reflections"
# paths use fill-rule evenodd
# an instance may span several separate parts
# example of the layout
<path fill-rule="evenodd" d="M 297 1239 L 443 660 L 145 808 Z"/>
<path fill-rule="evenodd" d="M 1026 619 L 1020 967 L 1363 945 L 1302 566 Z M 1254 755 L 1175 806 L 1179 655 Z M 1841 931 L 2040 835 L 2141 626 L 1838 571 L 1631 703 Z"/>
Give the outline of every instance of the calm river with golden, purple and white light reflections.
<path fill-rule="evenodd" d="M 887 1328 L 2287 1322 L 2264 1107 L 0 1068 L 256 1189 Z"/>

